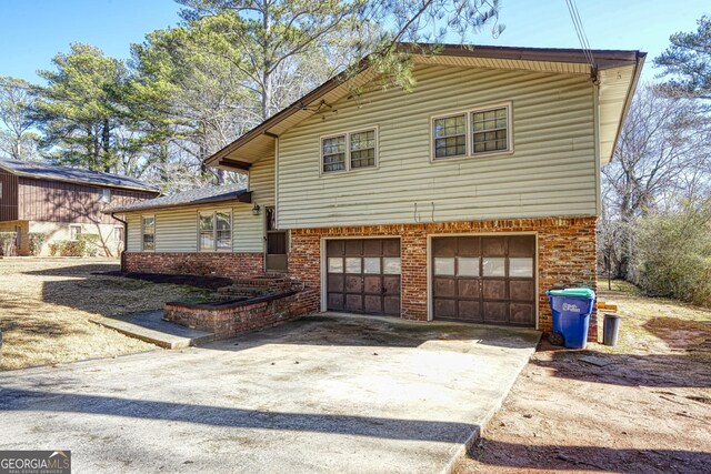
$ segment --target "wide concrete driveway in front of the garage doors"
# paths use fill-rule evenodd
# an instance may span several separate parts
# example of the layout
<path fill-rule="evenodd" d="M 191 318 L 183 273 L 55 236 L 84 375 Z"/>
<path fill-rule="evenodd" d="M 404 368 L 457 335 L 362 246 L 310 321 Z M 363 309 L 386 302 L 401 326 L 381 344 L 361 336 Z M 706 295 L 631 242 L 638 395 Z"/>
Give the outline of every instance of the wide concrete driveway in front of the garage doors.
<path fill-rule="evenodd" d="M 0 448 L 74 472 L 449 470 L 539 333 L 314 315 L 184 351 L 0 373 Z"/>

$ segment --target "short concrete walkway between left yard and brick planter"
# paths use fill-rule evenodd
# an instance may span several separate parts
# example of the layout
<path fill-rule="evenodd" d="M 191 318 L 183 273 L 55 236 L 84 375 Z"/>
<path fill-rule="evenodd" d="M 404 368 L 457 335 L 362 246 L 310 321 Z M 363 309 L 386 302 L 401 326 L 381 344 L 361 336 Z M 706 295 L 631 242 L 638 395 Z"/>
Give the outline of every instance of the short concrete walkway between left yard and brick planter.
<path fill-rule="evenodd" d="M 163 321 L 163 311 L 147 311 L 131 316 L 96 317 L 92 323 L 163 349 L 186 349 L 214 340 L 214 334 Z"/>

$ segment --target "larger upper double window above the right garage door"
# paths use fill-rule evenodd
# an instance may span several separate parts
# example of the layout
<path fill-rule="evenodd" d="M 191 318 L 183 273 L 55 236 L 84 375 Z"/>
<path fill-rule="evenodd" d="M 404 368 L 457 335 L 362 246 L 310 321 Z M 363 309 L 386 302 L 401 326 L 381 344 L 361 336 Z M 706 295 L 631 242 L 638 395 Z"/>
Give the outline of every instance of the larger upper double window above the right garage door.
<path fill-rule="evenodd" d="M 511 104 L 435 117 L 432 145 L 435 160 L 511 151 Z"/>

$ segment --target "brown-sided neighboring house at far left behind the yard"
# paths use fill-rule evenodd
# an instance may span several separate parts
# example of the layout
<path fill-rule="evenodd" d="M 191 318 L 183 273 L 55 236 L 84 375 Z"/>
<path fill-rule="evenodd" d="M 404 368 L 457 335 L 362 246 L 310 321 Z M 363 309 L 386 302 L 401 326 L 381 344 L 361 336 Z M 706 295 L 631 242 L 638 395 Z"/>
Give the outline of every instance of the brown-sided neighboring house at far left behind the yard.
<path fill-rule="evenodd" d="M 124 231 L 102 211 L 152 199 L 160 192 L 133 178 L 46 163 L 0 159 L 0 232 L 17 232 L 20 255 L 29 254 L 28 233 L 46 235 L 41 254 L 57 241 L 98 235 L 99 253 L 118 256 Z"/>

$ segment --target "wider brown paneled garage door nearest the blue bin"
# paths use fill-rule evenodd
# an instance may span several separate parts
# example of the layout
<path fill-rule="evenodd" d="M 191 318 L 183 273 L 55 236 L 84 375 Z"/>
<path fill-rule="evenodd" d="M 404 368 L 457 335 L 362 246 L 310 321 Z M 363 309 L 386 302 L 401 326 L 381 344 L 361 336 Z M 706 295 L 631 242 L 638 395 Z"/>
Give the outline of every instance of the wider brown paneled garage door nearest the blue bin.
<path fill-rule="evenodd" d="M 432 239 L 437 320 L 535 325 L 535 236 Z"/>

